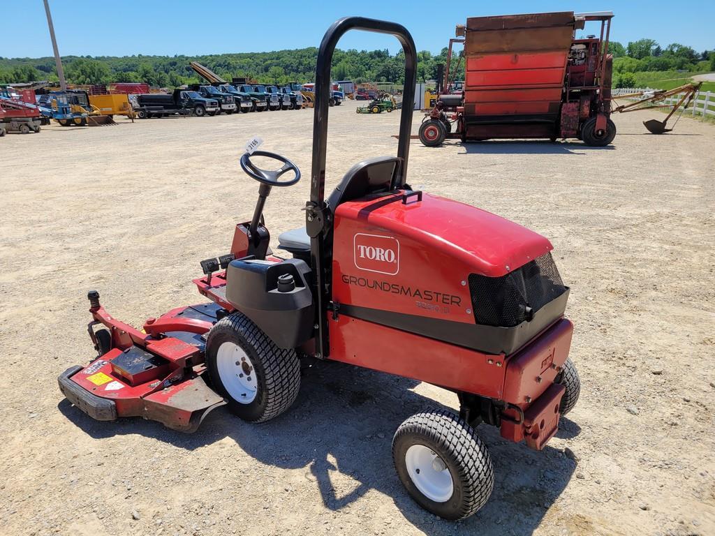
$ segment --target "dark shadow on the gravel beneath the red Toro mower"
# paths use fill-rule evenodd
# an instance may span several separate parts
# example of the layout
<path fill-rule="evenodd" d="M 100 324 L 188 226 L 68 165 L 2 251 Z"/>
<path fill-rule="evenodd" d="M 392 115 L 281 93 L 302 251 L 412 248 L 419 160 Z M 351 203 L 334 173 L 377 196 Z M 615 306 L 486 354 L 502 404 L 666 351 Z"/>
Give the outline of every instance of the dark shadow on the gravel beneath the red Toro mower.
<path fill-rule="evenodd" d="M 391 497 L 405 518 L 428 535 L 530 535 L 571 480 L 576 463 L 552 447 L 534 452 L 503 440 L 498 430 L 482 425 L 478 433 L 494 463 L 493 495 L 468 520 L 457 524 L 440 520 L 410 499 L 395 474 L 391 455 L 393 433 L 407 417 L 428 409 L 453 410 L 411 390 L 418 384 L 346 364 L 320 362 L 305 371 L 298 399 L 284 415 L 252 425 L 220 408 L 193 435 L 139 418 L 97 422 L 66 399 L 59 410 L 96 439 L 139 434 L 195 450 L 230 437 L 261 464 L 285 470 L 305 468 L 305 477 L 315 482 L 323 504 L 333 511 L 350 507 L 368 492 L 378 492 L 385 500 Z M 566 428 L 567 434 L 580 430 L 573 423 Z M 559 437 L 565 437 L 562 432 Z M 336 479 L 338 474 L 342 476 Z"/>

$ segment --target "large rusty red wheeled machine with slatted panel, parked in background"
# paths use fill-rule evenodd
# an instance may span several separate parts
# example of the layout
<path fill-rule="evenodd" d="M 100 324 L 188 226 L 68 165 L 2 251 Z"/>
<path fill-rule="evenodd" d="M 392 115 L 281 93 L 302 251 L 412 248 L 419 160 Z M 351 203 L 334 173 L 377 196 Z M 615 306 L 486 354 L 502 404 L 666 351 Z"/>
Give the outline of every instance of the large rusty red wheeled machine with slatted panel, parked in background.
<path fill-rule="evenodd" d="M 450 39 L 463 44 L 463 91 L 440 94 L 420 126 L 420 141 L 436 147 L 445 139 L 462 142 L 508 138 L 577 138 L 603 147 L 616 137 L 611 114 L 608 35 L 613 13 L 573 11 L 482 16 L 458 25 Z M 600 35 L 576 39 L 588 22 Z M 458 59 L 458 65 L 462 56 Z M 456 71 L 456 69 L 455 69 Z"/>

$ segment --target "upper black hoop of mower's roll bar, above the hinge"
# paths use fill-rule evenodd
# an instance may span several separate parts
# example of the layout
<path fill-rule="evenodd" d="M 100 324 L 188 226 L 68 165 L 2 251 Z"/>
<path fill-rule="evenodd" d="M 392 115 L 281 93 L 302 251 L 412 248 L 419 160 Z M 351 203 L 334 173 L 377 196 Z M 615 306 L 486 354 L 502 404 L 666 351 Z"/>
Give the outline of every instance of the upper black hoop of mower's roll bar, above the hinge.
<path fill-rule="evenodd" d="M 400 138 L 398 157 L 403 159 L 400 176 L 395 184 L 405 184 L 407 161 L 410 152 L 410 132 L 412 131 L 412 112 L 415 102 L 415 83 L 417 81 L 417 50 L 410 32 L 402 24 L 362 16 L 346 16 L 335 21 L 325 32 L 317 52 L 315 66 L 315 102 L 313 112 L 313 148 L 310 171 L 310 201 L 321 205 L 325 199 L 325 153 L 327 149 L 327 110 L 332 88 L 330 87 L 330 66 L 332 53 L 340 37 L 350 30 L 375 31 L 378 34 L 391 34 L 398 38 L 405 51 L 405 88 L 403 107 L 400 116 Z"/>

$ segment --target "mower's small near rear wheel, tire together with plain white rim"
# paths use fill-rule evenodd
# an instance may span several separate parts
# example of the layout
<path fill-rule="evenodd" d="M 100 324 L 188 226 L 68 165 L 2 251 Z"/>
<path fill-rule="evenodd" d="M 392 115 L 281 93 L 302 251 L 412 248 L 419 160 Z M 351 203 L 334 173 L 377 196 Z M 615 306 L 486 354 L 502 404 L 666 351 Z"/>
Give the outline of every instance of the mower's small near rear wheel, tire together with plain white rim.
<path fill-rule="evenodd" d="M 491 458 L 464 420 L 430 411 L 405 420 L 393 438 L 398 477 L 421 507 L 446 520 L 469 517 L 494 486 Z"/>

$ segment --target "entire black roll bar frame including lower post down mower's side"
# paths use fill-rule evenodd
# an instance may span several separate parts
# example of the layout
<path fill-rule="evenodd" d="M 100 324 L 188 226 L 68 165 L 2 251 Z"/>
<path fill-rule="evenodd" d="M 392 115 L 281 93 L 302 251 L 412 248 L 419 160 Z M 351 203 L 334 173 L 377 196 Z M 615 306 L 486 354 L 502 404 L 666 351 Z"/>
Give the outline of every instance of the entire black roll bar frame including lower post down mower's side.
<path fill-rule="evenodd" d="M 316 296 L 316 357 L 325 358 L 330 354 L 327 338 L 327 310 L 330 305 L 330 281 L 327 280 L 325 267 L 325 227 L 332 225 L 332 214 L 325 205 L 325 154 L 327 152 L 327 110 L 332 88 L 330 87 L 330 66 L 332 53 L 337 41 L 349 30 L 375 31 L 379 34 L 391 34 L 398 38 L 405 52 L 405 87 L 403 89 L 403 107 L 400 114 L 400 137 L 398 139 L 398 157 L 402 165 L 398 169 L 393 188 L 403 187 L 407 176 L 407 164 L 410 153 L 410 133 L 415 102 L 415 83 L 417 82 L 417 50 L 410 32 L 401 24 L 361 16 L 349 16 L 335 21 L 325 32 L 317 53 L 315 66 L 315 104 L 313 112 L 312 169 L 310 172 L 310 201 L 307 202 L 305 220 L 310 236 L 310 257 L 313 269 Z"/>

